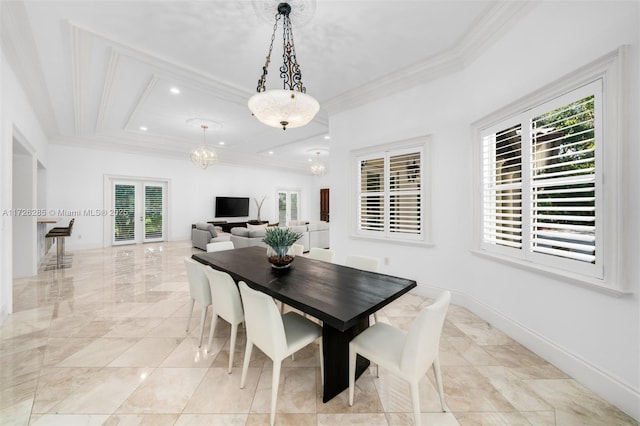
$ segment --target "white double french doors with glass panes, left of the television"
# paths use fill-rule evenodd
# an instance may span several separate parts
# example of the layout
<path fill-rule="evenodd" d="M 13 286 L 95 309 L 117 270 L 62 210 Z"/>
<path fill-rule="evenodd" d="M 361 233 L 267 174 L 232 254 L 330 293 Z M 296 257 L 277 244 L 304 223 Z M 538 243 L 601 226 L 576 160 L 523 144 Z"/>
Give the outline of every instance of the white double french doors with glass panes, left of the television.
<path fill-rule="evenodd" d="M 112 187 L 112 244 L 164 241 L 165 182 L 114 180 Z"/>

